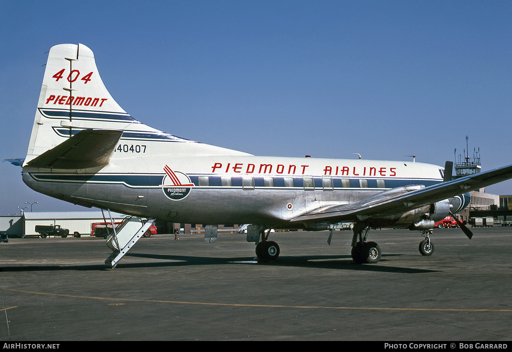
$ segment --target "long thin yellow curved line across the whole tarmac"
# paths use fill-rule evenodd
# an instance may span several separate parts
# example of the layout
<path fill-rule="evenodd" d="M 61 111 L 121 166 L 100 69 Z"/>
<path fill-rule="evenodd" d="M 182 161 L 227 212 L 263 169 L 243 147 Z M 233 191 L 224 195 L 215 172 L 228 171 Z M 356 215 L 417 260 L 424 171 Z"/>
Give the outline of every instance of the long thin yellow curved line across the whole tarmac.
<path fill-rule="evenodd" d="M 361 310 L 361 311 L 426 311 L 426 312 L 512 312 L 512 309 L 444 309 L 444 308 L 384 308 L 384 307 L 333 307 L 323 305 L 282 305 L 282 304 L 243 304 L 243 303 L 212 303 L 212 302 L 187 302 L 187 301 L 168 301 L 158 299 L 130 299 L 130 298 L 110 298 L 95 296 L 76 296 L 63 295 L 55 293 L 33 292 L 24 290 L 6 289 L 0 287 L 0 290 L 22 292 L 34 295 L 46 295 L 70 298 L 86 298 L 110 301 L 125 302 L 154 302 L 154 303 L 172 303 L 172 304 L 193 304 L 193 305 L 211 305 L 211 306 L 232 306 L 232 307 L 260 307 L 260 308 L 287 308 L 287 309 L 331 309 L 331 310 Z"/>

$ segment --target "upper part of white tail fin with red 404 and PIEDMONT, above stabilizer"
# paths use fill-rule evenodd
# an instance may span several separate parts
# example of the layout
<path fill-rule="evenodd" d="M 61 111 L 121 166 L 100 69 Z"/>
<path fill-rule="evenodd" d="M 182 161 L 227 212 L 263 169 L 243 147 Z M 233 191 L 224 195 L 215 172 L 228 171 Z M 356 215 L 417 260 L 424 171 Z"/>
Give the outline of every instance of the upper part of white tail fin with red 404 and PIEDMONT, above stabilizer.
<path fill-rule="evenodd" d="M 138 121 L 106 90 L 93 52 L 82 44 L 56 45 L 48 55 L 25 163 L 83 129 L 131 123 Z"/>

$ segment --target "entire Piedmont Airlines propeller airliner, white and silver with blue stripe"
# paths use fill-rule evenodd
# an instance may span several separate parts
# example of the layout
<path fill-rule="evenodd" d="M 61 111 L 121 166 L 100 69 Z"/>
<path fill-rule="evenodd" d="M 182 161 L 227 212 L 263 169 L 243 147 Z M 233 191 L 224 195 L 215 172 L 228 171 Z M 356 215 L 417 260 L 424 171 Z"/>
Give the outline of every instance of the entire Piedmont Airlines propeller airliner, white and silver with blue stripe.
<path fill-rule="evenodd" d="M 366 241 L 369 228 L 432 229 L 467 206 L 467 192 L 510 178 L 512 165 L 452 180 L 450 162 L 258 157 L 182 139 L 127 114 L 82 44 L 50 50 L 23 163 L 23 181 L 38 192 L 139 218 L 129 239 L 122 241 L 118 228 L 108 240 L 114 256 L 155 218 L 209 224 L 209 242 L 217 224 L 252 224 L 247 241 L 261 259 L 279 255 L 268 240 L 271 228 L 352 222 L 354 262 L 376 263 L 381 251 Z M 420 252 L 428 255 L 433 246 L 423 235 Z M 329 244 L 331 237 L 332 230 Z"/>

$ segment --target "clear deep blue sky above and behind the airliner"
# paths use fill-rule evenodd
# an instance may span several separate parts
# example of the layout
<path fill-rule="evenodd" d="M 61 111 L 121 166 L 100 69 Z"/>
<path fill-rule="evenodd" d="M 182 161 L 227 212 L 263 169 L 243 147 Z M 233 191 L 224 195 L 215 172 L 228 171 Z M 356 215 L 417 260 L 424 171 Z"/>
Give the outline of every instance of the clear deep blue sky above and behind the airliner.
<path fill-rule="evenodd" d="M 24 158 L 46 52 L 83 43 L 114 99 L 255 155 L 512 164 L 509 1 L 0 0 L 0 160 Z M 0 214 L 83 208 L 0 163 Z M 486 188 L 512 194 L 512 182 Z"/>

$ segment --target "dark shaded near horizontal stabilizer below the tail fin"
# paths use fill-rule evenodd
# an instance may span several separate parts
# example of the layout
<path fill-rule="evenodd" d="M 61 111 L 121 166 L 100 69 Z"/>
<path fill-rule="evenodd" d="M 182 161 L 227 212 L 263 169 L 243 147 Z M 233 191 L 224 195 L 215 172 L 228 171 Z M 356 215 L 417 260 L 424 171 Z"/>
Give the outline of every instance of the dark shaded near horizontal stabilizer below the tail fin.
<path fill-rule="evenodd" d="M 26 166 L 56 169 L 84 169 L 109 163 L 123 132 L 113 129 L 84 129 L 32 159 Z"/>

